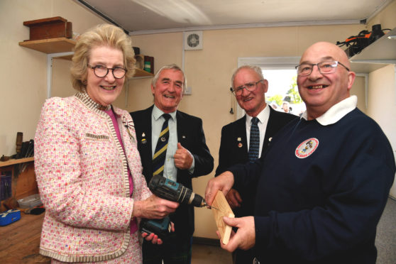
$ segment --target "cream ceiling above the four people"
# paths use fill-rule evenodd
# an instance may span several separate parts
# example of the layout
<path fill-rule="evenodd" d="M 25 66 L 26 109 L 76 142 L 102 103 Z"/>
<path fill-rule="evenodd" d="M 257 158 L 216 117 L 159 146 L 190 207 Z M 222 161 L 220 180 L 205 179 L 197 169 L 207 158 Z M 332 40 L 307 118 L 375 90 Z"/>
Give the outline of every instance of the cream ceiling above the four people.
<path fill-rule="evenodd" d="M 359 23 L 392 0 L 75 0 L 126 31 L 271 26 L 280 23 Z"/>

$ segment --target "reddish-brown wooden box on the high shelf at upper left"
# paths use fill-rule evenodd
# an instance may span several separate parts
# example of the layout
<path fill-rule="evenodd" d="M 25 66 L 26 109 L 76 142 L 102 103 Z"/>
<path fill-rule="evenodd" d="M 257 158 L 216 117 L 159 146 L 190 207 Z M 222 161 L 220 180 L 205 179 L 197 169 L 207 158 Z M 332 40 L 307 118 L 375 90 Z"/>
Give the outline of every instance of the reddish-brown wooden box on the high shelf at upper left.
<path fill-rule="evenodd" d="M 24 21 L 24 26 L 30 28 L 29 40 L 42 40 L 48 38 L 72 38 L 72 23 L 65 18 L 55 16 L 32 21 Z"/>

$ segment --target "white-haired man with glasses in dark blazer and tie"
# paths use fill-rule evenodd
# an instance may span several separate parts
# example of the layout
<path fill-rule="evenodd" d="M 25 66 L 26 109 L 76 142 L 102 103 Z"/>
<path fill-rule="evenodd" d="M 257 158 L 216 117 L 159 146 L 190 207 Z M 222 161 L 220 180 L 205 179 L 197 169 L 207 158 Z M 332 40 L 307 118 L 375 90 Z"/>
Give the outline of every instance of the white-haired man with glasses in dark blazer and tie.
<path fill-rule="evenodd" d="M 275 133 L 286 123 L 297 118 L 292 114 L 275 111 L 265 103 L 268 81 L 264 79 L 260 67 L 251 65 L 239 67 L 231 77 L 231 85 L 231 91 L 239 106 L 246 111 L 246 115 L 221 129 L 216 176 L 232 165 L 253 162 L 260 158 Z M 255 200 L 253 187 L 231 189 L 226 199 L 236 216 L 253 215 Z M 236 264 L 252 263 L 253 258 L 251 250 L 237 250 L 233 253 L 233 263 Z"/>

